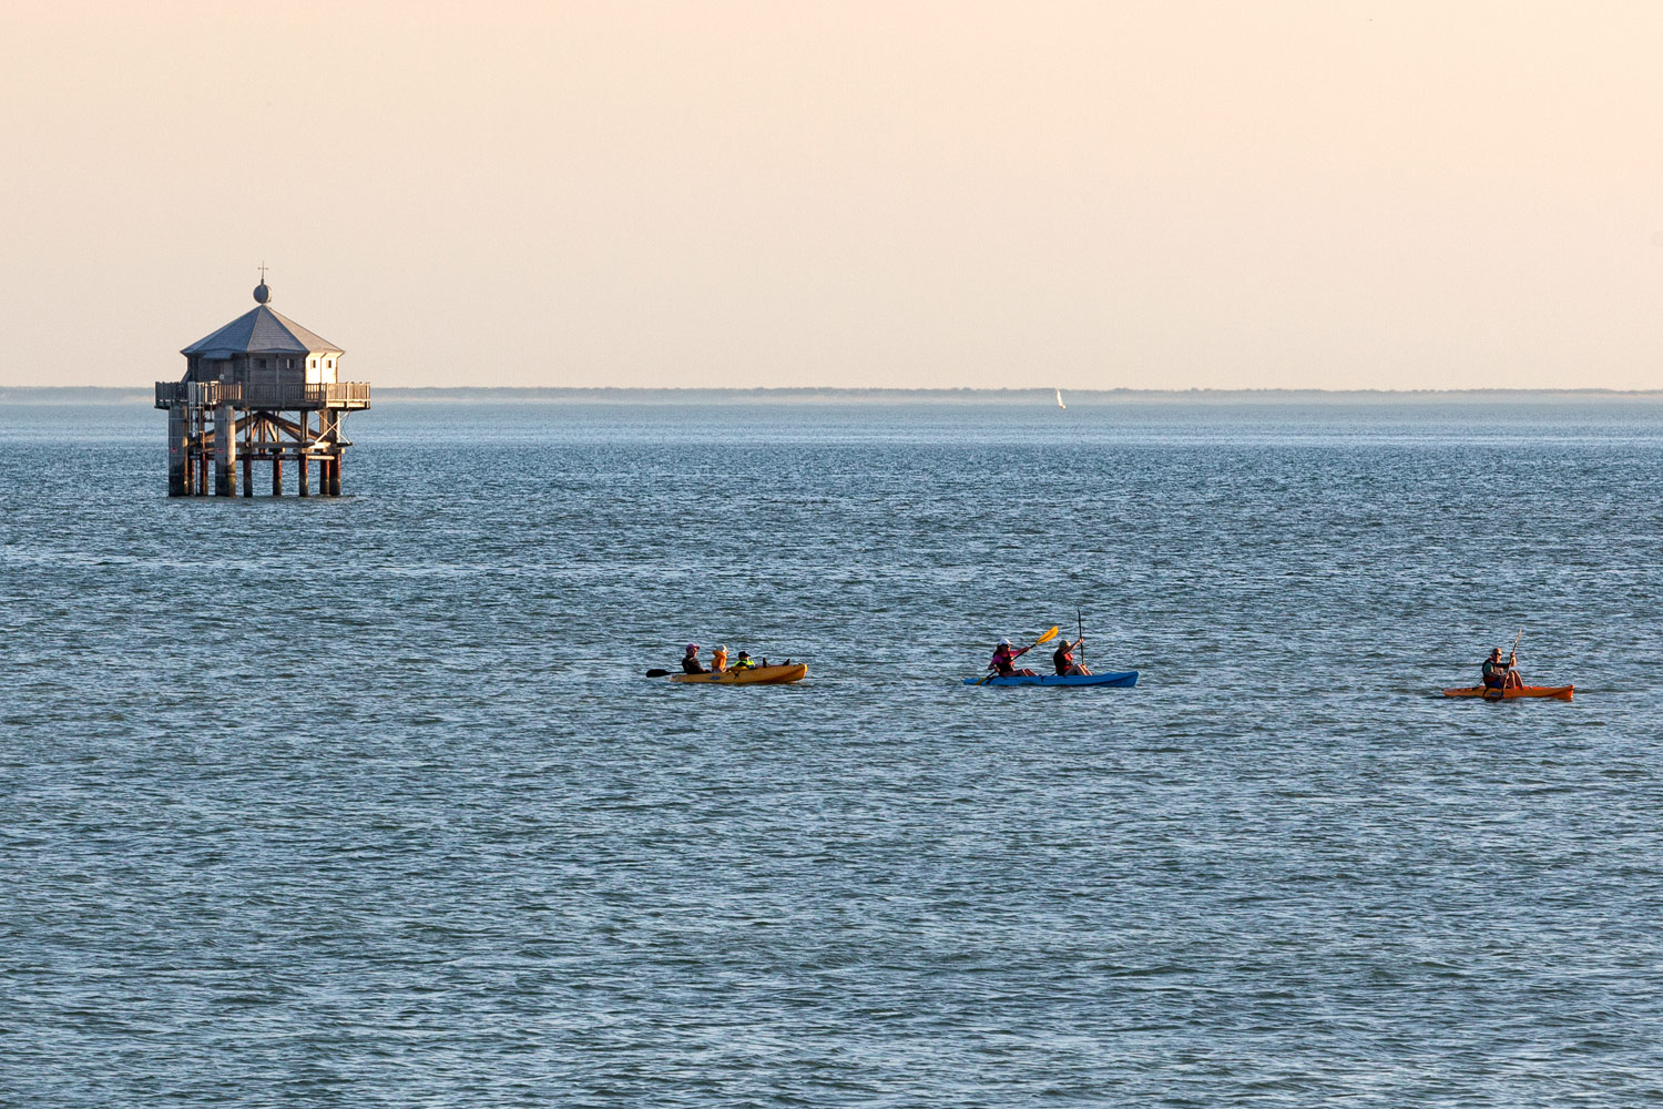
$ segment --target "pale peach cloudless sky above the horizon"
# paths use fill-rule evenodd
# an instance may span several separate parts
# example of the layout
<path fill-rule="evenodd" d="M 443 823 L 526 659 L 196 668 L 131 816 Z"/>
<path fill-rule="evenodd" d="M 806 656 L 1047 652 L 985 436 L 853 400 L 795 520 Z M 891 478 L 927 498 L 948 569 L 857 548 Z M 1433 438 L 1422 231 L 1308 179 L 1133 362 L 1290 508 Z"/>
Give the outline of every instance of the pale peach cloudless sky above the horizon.
<path fill-rule="evenodd" d="M 1663 3 L 5 0 L 0 386 L 1663 389 Z"/>

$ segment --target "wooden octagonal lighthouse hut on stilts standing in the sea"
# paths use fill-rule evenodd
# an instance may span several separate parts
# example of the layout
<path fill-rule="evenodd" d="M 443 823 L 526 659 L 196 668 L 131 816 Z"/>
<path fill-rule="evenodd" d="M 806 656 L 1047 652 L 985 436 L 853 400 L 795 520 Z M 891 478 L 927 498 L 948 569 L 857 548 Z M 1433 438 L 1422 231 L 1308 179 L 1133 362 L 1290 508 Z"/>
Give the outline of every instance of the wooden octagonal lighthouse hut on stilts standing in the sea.
<path fill-rule="evenodd" d="M 271 495 L 283 495 L 283 464 L 296 467 L 303 497 L 318 464 L 318 492 L 341 495 L 341 432 L 349 411 L 369 407 L 369 386 L 341 381 L 341 347 L 271 309 L 264 274 L 254 308 L 181 351 L 185 377 L 156 382 L 168 411 L 168 495 L 254 495 L 254 462 L 271 464 Z"/>

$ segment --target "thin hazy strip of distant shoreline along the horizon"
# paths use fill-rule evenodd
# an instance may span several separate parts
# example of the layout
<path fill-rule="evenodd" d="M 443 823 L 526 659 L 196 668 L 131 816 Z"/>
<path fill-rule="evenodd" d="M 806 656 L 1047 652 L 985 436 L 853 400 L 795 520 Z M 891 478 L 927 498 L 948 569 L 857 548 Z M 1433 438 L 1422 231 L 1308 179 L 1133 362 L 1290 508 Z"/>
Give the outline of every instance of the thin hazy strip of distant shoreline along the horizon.
<path fill-rule="evenodd" d="M 1031 389 L 625 389 L 625 387 L 399 387 L 376 386 L 374 399 L 489 404 L 1051 404 L 1053 386 Z M 1064 389 L 1084 402 L 1452 402 L 1532 404 L 1545 401 L 1660 401 L 1663 389 Z M 120 386 L 0 386 L 0 404 L 151 404 L 150 389 Z"/>

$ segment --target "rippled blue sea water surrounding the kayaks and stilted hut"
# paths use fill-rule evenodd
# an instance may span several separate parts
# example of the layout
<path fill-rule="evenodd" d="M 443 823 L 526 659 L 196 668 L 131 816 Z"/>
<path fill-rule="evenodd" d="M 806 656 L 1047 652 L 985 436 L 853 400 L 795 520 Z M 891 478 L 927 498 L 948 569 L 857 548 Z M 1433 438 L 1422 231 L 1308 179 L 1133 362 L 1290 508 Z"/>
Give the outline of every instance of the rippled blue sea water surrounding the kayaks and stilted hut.
<path fill-rule="evenodd" d="M 1663 402 L 348 432 L 0 407 L 0 1104 L 1663 1099 Z M 960 683 L 1076 605 L 1137 688 Z"/>

